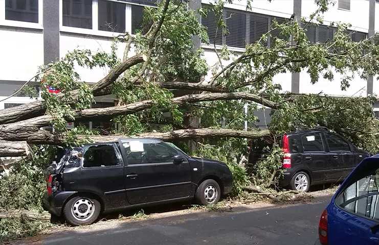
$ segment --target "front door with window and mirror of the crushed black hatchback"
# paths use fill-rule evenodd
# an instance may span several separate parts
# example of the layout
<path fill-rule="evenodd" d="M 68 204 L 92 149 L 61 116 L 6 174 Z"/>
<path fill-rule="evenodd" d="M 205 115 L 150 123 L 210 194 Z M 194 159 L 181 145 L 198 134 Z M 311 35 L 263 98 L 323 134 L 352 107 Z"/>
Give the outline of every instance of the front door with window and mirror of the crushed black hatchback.
<path fill-rule="evenodd" d="M 130 204 L 185 198 L 191 192 L 191 168 L 186 157 L 168 144 L 154 139 L 121 140 L 126 158 L 125 185 Z"/>

